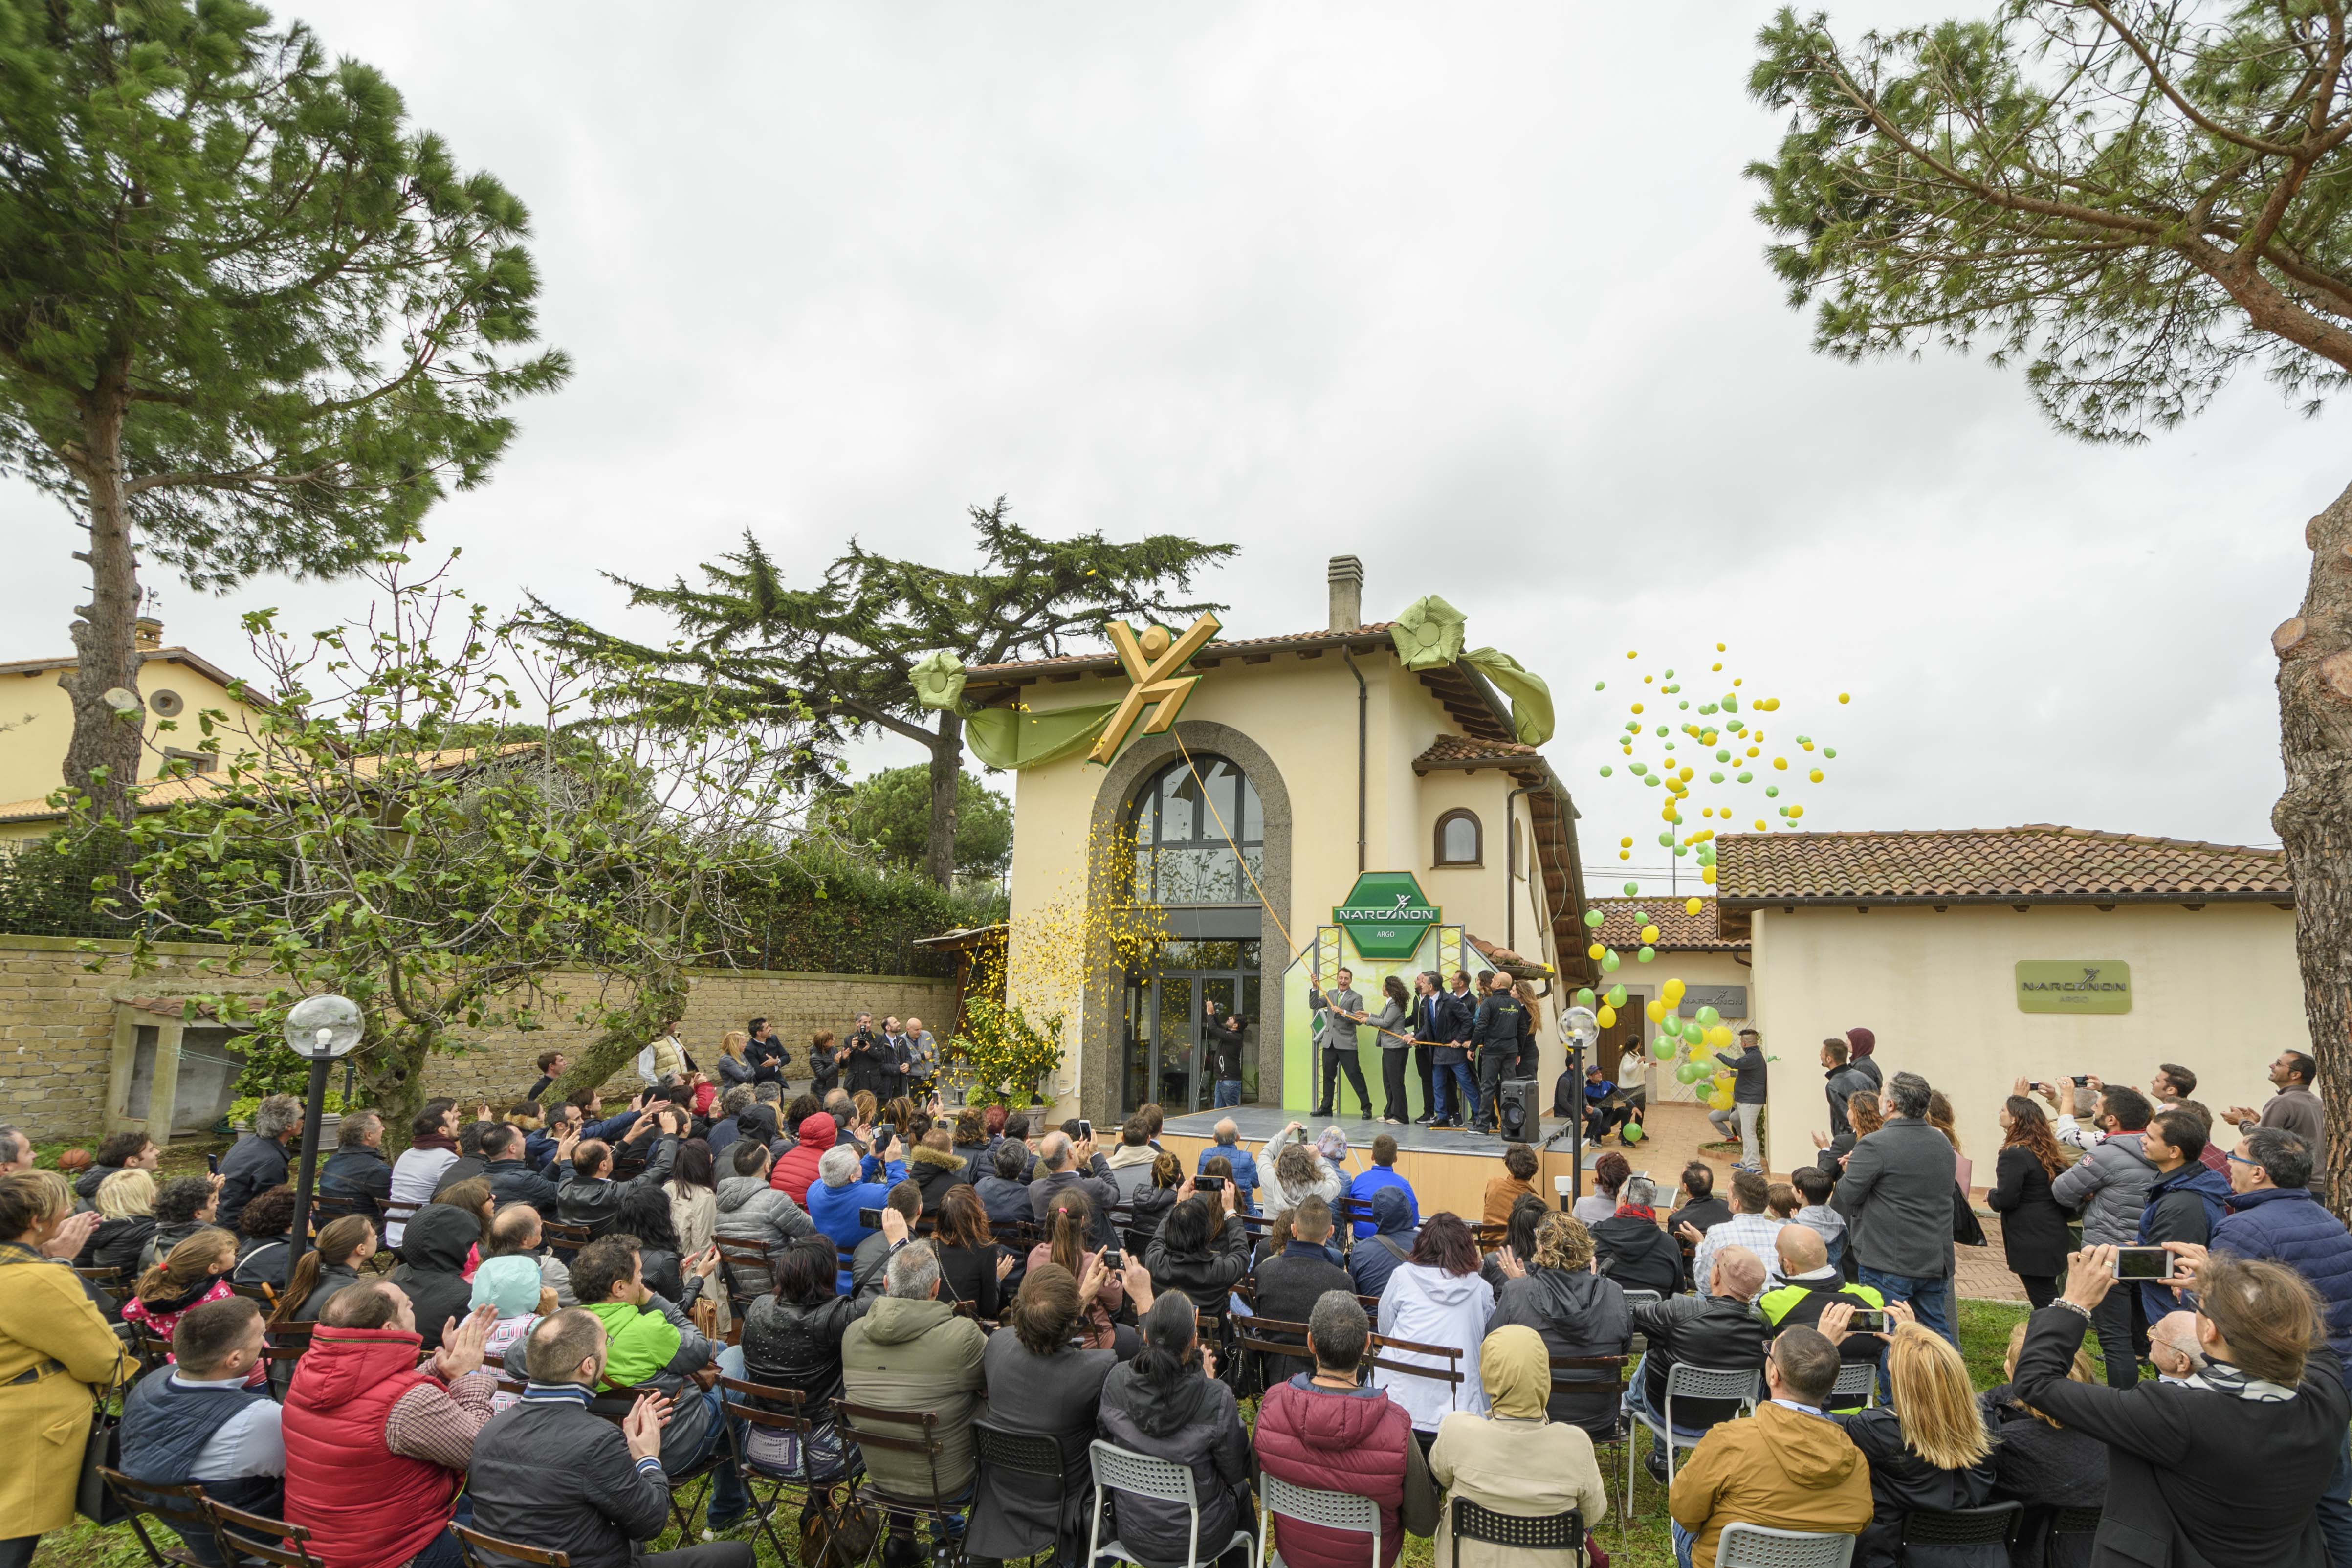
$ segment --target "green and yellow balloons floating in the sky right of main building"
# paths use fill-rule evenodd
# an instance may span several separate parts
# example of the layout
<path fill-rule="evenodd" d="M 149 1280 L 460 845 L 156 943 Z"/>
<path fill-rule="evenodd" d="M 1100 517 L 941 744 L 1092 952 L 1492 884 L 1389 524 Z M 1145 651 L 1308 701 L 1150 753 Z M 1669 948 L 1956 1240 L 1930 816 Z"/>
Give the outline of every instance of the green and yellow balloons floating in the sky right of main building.
<path fill-rule="evenodd" d="M 1717 642 L 1715 651 L 1726 651 L 1726 644 Z M 1639 656 L 1639 649 L 1625 651 L 1625 658 Z M 1722 670 L 1724 663 L 1717 658 L 1708 668 L 1708 675 L 1719 677 Z M 1644 675 L 1642 684 L 1651 686 L 1653 693 L 1649 701 L 1635 698 L 1628 705 L 1632 717 L 1625 719 L 1618 736 L 1618 750 L 1632 757 L 1625 764 L 1625 776 L 1642 780 L 1644 788 L 1663 790 L 1658 820 L 1665 827 L 1658 832 L 1658 844 L 1675 851 L 1677 858 L 1696 858 L 1700 882 L 1712 886 L 1715 835 L 1729 830 L 1736 818 L 1762 811 L 1752 799 L 1738 799 L 1743 792 L 1762 790 L 1766 802 L 1776 802 L 1780 825 L 1797 827 L 1804 820 L 1804 804 L 1780 799 L 1783 778 L 1795 790 L 1797 778 L 1788 778 L 1790 773 L 1802 776 L 1806 783 L 1823 783 L 1828 773 L 1820 766 L 1806 766 L 1804 757 L 1790 762 L 1788 752 L 1771 755 L 1766 750 L 1769 736 L 1755 719 L 1780 712 L 1780 698 L 1743 693 L 1745 677 L 1740 675 L 1729 677 L 1722 696 L 1700 696 L 1696 701 L 1682 696 L 1682 682 L 1675 679 L 1672 668 Z M 1710 679 L 1708 684 L 1717 682 Z M 1609 682 L 1592 682 L 1592 689 L 1606 691 Z M 1675 701 L 1677 717 L 1672 724 L 1661 724 L 1658 719 L 1668 698 Z M 1851 693 L 1839 691 L 1837 701 L 1849 703 Z M 1651 703 L 1661 712 L 1649 715 Z M 1813 736 L 1795 736 L 1795 745 L 1799 752 L 1823 762 L 1837 759 L 1837 748 Z M 1677 748 L 1684 750 L 1677 755 Z M 1649 755 L 1637 755 L 1637 750 L 1646 750 Z M 1616 764 L 1602 764 L 1602 778 L 1611 776 L 1616 776 Z M 1698 802 L 1698 827 L 1691 827 L 1684 816 L 1684 809 L 1693 799 Z M 1769 827 L 1769 818 L 1755 816 L 1757 832 L 1766 832 Z M 1618 839 L 1618 860 L 1632 860 L 1630 835 Z M 1628 884 L 1625 893 L 1635 893 L 1632 884 Z"/>

